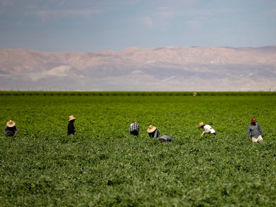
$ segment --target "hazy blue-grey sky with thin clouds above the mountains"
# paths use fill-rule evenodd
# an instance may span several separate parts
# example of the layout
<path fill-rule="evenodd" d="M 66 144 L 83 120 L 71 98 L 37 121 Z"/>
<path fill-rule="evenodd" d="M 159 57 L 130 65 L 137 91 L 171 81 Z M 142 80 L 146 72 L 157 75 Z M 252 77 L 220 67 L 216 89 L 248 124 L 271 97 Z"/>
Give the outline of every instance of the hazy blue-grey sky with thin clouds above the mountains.
<path fill-rule="evenodd" d="M 268 45 L 275 0 L 0 0 L 0 49 Z"/>

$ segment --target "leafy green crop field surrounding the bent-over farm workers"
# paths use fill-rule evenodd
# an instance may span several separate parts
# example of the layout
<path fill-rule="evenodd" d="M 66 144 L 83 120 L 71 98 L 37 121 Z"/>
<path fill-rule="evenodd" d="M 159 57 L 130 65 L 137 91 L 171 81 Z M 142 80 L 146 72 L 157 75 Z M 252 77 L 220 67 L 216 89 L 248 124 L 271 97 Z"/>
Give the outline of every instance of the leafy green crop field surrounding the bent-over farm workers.
<path fill-rule="evenodd" d="M 0 133 L 0 206 L 276 206 L 275 93 L 0 92 L 0 103 L 0 126 L 19 128 Z M 246 139 L 252 117 L 262 143 Z M 201 121 L 217 135 L 200 137 Z M 150 124 L 175 141 L 148 137 Z"/>

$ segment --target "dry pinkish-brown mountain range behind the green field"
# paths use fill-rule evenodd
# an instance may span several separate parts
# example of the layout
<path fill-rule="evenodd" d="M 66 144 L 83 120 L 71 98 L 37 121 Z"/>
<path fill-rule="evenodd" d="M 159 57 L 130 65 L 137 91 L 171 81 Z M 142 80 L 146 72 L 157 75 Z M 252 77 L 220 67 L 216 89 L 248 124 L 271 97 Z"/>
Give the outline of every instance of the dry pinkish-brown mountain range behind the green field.
<path fill-rule="evenodd" d="M 276 90 L 276 46 L 0 50 L 1 90 Z"/>

